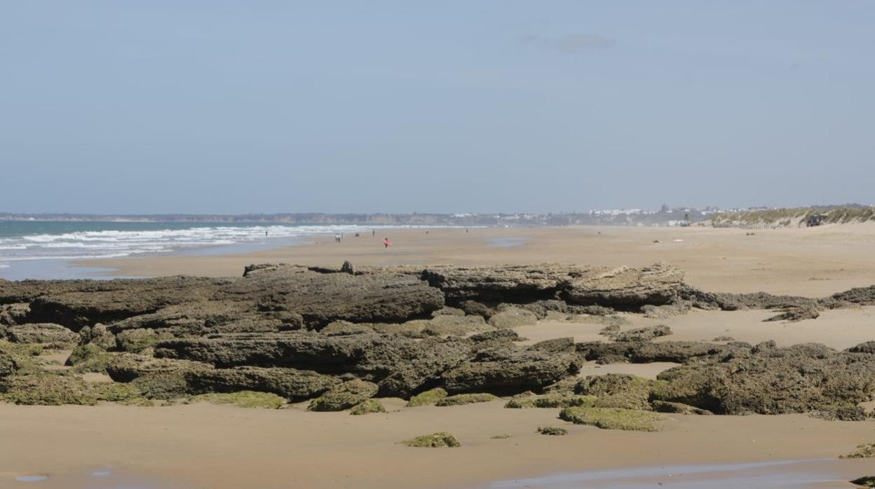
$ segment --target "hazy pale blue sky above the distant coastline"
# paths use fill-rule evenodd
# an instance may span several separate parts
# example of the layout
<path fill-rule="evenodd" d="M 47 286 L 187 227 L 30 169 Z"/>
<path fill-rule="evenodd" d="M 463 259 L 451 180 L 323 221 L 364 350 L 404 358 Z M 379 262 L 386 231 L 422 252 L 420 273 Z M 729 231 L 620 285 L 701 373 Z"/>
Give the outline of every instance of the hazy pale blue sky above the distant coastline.
<path fill-rule="evenodd" d="M 0 212 L 872 203 L 875 2 L 0 3 Z"/>

